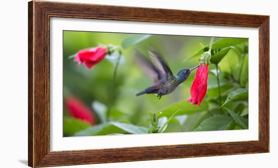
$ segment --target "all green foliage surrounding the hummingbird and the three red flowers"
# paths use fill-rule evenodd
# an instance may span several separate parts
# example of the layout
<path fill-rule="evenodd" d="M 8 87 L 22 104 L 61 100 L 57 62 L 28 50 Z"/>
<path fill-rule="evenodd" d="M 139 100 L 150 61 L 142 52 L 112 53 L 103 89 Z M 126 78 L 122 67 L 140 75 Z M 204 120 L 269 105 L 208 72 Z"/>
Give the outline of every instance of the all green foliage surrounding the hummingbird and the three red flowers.
<path fill-rule="evenodd" d="M 147 46 L 155 46 L 171 70 L 177 72 L 197 65 L 196 59 L 209 51 L 209 41 L 209 37 L 64 31 L 64 98 L 74 95 L 90 106 L 97 116 L 97 124 L 89 125 L 73 118 L 64 106 L 63 135 L 248 129 L 248 39 L 214 40 L 208 90 L 200 107 L 187 101 L 195 71 L 161 100 L 151 94 L 135 96 L 152 85 L 152 81 L 134 61 L 134 49 L 147 55 Z M 91 69 L 73 62 L 74 53 L 100 43 L 117 46 L 118 50 L 111 50 Z M 207 45 L 200 47 L 200 43 Z"/>

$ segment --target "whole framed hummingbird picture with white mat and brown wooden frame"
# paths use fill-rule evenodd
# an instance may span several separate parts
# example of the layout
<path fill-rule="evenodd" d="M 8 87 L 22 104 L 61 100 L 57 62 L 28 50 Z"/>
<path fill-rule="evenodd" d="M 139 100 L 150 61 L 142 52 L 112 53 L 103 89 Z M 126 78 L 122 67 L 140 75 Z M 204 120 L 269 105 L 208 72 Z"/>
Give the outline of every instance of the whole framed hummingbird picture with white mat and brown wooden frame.
<path fill-rule="evenodd" d="M 269 16 L 28 6 L 29 166 L 269 152 Z"/>

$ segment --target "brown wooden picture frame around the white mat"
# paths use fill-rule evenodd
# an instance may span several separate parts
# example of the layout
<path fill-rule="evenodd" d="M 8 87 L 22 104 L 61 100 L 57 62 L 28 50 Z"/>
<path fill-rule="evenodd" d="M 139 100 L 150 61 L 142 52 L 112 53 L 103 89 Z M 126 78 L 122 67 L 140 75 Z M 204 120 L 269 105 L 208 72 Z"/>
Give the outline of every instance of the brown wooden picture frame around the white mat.
<path fill-rule="evenodd" d="M 259 28 L 259 140 L 50 151 L 50 18 Z M 28 3 L 28 165 L 33 167 L 269 152 L 269 16 L 32 1 Z"/>

